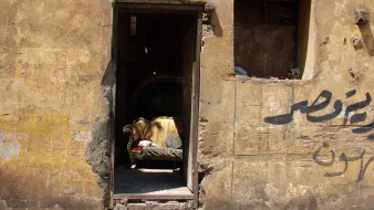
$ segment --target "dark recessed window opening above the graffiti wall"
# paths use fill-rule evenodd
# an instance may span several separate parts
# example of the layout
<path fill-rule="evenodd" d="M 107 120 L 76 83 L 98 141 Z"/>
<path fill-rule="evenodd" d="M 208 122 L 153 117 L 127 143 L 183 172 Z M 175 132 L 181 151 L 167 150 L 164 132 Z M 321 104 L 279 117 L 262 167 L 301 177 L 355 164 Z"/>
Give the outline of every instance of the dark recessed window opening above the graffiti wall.
<path fill-rule="evenodd" d="M 241 77 L 300 80 L 311 0 L 235 0 L 235 72 Z"/>

